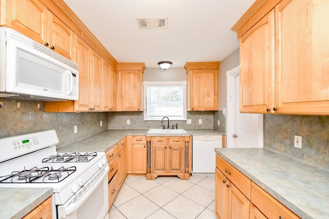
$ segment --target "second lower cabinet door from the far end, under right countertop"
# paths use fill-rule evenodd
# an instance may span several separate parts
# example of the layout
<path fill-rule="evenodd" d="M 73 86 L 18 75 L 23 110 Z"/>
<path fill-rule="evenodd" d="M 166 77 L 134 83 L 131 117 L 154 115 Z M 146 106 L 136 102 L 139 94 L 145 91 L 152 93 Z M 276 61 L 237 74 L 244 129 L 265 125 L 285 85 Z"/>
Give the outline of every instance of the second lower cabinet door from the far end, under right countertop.
<path fill-rule="evenodd" d="M 249 218 L 250 201 L 232 183 L 228 190 L 228 218 Z"/>

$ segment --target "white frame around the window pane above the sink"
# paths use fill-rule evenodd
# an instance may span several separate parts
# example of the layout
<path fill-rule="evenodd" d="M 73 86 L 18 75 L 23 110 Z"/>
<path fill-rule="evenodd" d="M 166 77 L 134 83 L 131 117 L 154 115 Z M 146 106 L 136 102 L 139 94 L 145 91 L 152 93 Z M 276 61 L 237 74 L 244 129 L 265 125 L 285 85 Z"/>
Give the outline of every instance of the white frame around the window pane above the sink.
<path fill-rule="evenodd" d="M 143 103 L 143 108 L 144 108 L 144 121 L 160 121 L 159 119 L 149 119 L 148 118 L 148 85 L 182 85 L 183 87 L 183 118 L 180 120 L 177 120 L 177 118 L 175 118 L 174 121 L 185 121 L 187 118 L 187 81 L 166 81 L 166 82 L 148 82 L 148 81 L 144 81 L 143 82 L 143 98 L 144 98 L 144 103 Z M 167 116 L 167 115 L 163 115 L 163 116 Z M 170 116 L 168 116 L 170 120 L 172 120 L 170 118 Z"/>

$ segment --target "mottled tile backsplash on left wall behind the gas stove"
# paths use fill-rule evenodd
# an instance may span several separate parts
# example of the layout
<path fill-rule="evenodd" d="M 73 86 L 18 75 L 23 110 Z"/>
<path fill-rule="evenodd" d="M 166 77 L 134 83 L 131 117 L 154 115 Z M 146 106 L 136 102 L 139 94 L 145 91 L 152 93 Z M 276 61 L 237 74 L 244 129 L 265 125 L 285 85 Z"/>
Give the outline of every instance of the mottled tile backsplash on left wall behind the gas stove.
<path fill-rule="evenodd" d="M 0 108 L 0 138 L 54 129 L 60 146 L 107 130 L 107 113 L 45 113 L 43 101 L 2 98 L 0 102 L 3 102 L 3 107 Z M 19 108 L 17 103 L 20 103 Z M 100 121 L 103 121 L 102 127 L 100 127 Z M 78 126 L 76 134 L 74 133 L 75 125 Z"/>

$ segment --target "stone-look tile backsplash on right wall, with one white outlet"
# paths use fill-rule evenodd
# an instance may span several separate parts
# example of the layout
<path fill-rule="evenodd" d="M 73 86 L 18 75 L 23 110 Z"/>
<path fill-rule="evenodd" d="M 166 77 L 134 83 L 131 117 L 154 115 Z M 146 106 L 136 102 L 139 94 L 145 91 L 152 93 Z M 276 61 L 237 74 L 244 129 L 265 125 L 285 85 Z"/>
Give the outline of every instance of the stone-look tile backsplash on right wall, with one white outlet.
<path fill-rule="evenodd" d="M 295 135 L 302 136 L 302 149 L 294 147 Z M 329 170 L 329 116 L 266 114 L 264 148 Z"/>

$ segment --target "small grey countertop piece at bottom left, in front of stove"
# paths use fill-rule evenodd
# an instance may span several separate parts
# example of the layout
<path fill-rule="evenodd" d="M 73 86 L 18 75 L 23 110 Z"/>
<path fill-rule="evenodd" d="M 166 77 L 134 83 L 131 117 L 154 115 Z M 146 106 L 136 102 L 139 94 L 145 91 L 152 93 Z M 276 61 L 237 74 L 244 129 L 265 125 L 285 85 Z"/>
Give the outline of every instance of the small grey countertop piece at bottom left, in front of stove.
<path fill-rule="evenodd" d="M 0 218 L 22 218 L 52 195 L 52 188 L 0 188 Z"/>

